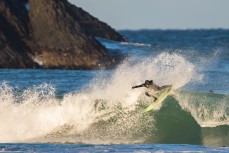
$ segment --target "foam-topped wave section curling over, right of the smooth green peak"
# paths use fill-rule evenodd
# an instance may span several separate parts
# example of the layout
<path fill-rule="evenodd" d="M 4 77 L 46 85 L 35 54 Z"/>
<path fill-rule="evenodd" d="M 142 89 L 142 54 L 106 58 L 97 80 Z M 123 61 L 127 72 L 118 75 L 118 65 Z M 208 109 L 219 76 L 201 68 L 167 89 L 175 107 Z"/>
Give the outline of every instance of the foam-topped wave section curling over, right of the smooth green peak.
<path fill-rule="evenodd" d="M 179 92 L 182 109 L 191 112 L 201 127 L 229 125 L 229 95 L 212 92 Z"/>

